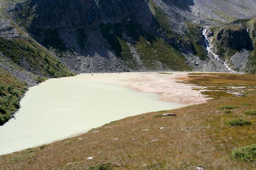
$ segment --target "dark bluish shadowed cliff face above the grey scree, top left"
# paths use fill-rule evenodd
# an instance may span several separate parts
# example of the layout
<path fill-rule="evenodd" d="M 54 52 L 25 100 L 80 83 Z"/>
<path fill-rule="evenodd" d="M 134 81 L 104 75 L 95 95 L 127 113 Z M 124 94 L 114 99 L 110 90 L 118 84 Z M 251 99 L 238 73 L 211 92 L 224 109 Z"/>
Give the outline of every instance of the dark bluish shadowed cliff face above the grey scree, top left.
<path fill-rule="evenodd" d="M 19 17 L 35 28 L 95 28 L 100 23 L 119 23 L 124 18 L 148 23 L 151 11 L 144 0 L 28 0 L 17 5 Z"/>

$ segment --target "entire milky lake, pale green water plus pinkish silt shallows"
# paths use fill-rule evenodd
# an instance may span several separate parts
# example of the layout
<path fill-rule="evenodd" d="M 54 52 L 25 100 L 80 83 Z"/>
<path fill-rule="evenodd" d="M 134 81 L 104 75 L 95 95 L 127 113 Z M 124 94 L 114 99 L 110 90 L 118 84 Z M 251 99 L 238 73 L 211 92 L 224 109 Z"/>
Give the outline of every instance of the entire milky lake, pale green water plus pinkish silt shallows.
<path fill-rule="evenodd" d="M 206 102 L 187 73 L 80 74 L 29 88 L 16 119 L 0 127 L 1 154 L 85 133 L 111 121 Z"/>

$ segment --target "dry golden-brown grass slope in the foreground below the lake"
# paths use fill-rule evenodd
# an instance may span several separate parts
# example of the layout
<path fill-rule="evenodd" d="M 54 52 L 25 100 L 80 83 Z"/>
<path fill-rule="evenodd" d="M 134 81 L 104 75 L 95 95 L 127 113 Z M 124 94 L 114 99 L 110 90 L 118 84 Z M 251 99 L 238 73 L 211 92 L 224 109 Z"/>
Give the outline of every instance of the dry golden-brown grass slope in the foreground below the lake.
<path fill-rule="evenodd" d="M 217 109 L 221 105 L 239 108 L 227 114 Z M 111 163 L 112 169 L 131 170 L 191 170 L 197 166 L 207 170 L 253 170 L 256 162 L 232 159 L 231 152 L 256 143 L 256 116 L 243 113 L 255 109 L 255 105 L 256 91 L 250 91 L 246 97 L 128 117 L 47 147 L 0 156 L 0 169 L 72 170 Z M 154 116 L 163 113 L 177 116 Z M 140 119 L 142 116 L 145 119 Z M 230 119 L 245 119 L 252 124 L 232 127 L 227 123 Z M 99 132 L 93 133 L 95 130 Z M 154 139 L 158 140 L 151 142 Z M 93 159 L 87 159 L 91 156 Z"/>

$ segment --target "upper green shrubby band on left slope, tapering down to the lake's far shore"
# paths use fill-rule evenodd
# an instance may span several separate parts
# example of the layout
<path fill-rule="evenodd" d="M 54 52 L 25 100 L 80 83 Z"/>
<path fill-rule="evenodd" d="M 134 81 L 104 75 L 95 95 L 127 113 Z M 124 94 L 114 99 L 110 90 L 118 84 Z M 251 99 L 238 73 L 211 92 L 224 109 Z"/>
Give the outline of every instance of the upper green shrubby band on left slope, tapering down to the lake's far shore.
<path fill-rule="evenodd" d="M 24 60 L 29 64 L 31 72 L 40 71 L 47 77 L 67 77 L 74 74 L 65 68 L 61 62 L 34 40 L 6 39 L 0 37 L 0 52 L 17 65 Z"/>

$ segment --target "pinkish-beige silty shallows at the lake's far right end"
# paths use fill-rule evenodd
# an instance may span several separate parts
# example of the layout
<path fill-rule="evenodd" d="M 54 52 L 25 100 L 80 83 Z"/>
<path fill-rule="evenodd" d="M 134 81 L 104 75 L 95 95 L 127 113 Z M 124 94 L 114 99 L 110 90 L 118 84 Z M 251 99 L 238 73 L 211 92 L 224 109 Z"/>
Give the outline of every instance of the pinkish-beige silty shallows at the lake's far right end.
<path fill-rule="evenodd" d="M 192 90 L 198 86 L 179 83 L 176 78 L 187 77 L 190 72 L 159 73 L 111 73 L 111 74 L 80 74 L 76 77 L 92 81 L 102 81 L 123 85 L 136 91 L 159 94 L 159 99 L 196 105 L 207 102 L 199 91 Z"/>

